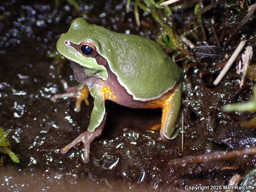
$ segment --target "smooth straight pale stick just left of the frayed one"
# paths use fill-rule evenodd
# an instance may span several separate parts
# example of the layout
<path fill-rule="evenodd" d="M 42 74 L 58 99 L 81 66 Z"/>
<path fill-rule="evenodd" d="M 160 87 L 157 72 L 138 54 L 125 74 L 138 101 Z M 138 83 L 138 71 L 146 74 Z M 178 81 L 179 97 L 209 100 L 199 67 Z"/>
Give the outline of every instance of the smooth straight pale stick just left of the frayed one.
<path fill-rule="evenodd" d="M 236 60 L 236 57 L 238 56 L 238 54 L 244 48 L 244 45 L 245 45 L 245 41 L 242 40 L 239 43 L 239 45 L 237 46 L 237 48 L 234 51 L 234 53 L 229 58 L 227 64 L 223 67 L 223 69 L 221 70 L 220 74 L 217 76 L 217 78 L 213 82 L 214 85 L 217 85 L 217 84 L 220 83 L 221 79 L 226 75 L 226 73 L 228 72 L 228 69 L 231 67 L 232 63 Z"/>

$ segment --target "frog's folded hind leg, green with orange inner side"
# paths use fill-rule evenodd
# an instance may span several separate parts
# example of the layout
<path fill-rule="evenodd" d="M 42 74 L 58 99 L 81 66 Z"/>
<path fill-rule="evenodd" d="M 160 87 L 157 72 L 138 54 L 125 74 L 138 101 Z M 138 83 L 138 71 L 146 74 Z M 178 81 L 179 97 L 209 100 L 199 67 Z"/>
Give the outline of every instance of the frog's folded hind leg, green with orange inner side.
<path fill-rule="evenodd" d="M 173 94 L 163 102 L 160 136 L 163 140 L 171 139 L 180 113 L 181 83 Z"/>

